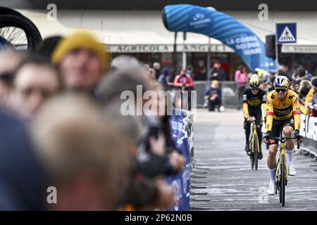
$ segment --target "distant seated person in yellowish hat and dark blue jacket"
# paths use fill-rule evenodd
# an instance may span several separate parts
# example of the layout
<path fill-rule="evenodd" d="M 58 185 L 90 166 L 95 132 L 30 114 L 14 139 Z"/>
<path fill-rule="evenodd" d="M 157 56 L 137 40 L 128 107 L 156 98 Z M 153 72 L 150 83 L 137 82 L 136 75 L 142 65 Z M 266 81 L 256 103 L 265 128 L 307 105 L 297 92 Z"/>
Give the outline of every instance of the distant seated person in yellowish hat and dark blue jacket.
<path fill-rule="evenodd" d="M 211 87 L 206 90 L 205 92 L 205 99 L 208 99 L 208 110 L 209 111 L 215 111 L 215 108 L 217 106 L 218 112 L 220 112 L 220 106 L 221 106 L 221 90 L 219 88 L 219 82 L 217 80 L 214 80 L 211 82 Z"/>

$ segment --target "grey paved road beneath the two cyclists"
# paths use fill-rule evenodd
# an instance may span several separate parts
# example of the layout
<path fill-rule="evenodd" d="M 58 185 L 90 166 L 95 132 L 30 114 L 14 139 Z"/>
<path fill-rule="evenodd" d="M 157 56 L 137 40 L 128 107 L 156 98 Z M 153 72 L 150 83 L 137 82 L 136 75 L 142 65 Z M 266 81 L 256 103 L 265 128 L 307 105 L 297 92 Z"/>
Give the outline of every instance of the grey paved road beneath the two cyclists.
<path fill-rule="evenodd" d="M 282 207 L 278 195 L 267 194 L 268 151 L 264 145 L 258 171 L 251 169 L 244 152 L 242 123 L 242 111 L 197 111 L 191 210 L 317 210 L 317 163 L 313 158 L 294 154 L 297 175 L 290 177 Z"/>

